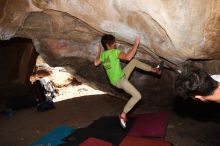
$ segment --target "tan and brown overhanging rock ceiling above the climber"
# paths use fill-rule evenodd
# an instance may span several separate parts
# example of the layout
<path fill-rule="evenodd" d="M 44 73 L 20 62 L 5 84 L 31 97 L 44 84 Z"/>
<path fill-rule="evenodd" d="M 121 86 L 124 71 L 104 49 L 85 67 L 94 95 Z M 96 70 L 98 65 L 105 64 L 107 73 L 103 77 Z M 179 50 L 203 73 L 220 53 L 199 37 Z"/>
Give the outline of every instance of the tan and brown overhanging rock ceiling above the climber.
<path fill-rule="evenodd" d="M 166 67 L 173 70 L 188 59 L 219 60 L 220 1 L 0 2 L 0 40 L 30 38 L 50 65 L 68 66 L 82 80 L 98 85 L 108 82 L 102 68 L 97 69 L 92 63 L 94 46 L 104 33 L 115 35 L 120 49 L 125 51 L 140 36 L 135 58 L 154 65 L 163 59 Z M 139 73 L 137 76 L 140 80 Z M 109 90 L 113 92 L 112 87 Z"/>

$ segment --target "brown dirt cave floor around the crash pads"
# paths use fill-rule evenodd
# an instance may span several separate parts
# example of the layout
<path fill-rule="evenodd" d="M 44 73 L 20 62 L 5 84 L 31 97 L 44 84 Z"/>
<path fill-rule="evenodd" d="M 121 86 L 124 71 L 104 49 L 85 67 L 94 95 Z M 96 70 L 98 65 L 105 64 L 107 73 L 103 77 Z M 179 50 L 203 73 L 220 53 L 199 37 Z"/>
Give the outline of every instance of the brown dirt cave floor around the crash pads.
<path fill-rule="evenodd" d="M 104 94 L 56 102 L 56 108 L 46 112 L 38 112 L 32 107 L 16 111 L 12 117 L 0 114 L 0 146 L 27 146 L 60 124 L 75 129 L 86 127 L 99 117 L 118 115 L 125 103 L 125 100 Z M 219 121 L 180 116 L 173 107 L 164 109 L 141 104 L 132 113 L 157 111 L 169 113 L 165 140 L 174 146 L 220 145 Z"/>

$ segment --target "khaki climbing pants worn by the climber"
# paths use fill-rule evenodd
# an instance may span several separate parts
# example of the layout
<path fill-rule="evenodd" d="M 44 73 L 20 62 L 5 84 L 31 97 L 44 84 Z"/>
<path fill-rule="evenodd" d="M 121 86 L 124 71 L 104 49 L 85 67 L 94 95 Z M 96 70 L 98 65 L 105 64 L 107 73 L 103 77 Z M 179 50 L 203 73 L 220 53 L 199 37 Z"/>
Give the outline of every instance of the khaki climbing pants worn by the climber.
<path fill-rule="evenodd" d="M 123 112 L 128 113 L 134 105 L 141 99 L 140 92 L 128 81 L 128 78 L 130 77 L 131 73 L 135 69 L 135 67 L 144 70 L 144 71 L 151 71 L 152 67 L 140 62 L 136 59 L 132 59 L 128 65 L 125 66 L 123 69 L 125 76 L 119 80 L 119 82 L 116 84 L 116 87 L 123 89 L 125 92 L 131 95 L 131 98 L 126 103 Z"/>

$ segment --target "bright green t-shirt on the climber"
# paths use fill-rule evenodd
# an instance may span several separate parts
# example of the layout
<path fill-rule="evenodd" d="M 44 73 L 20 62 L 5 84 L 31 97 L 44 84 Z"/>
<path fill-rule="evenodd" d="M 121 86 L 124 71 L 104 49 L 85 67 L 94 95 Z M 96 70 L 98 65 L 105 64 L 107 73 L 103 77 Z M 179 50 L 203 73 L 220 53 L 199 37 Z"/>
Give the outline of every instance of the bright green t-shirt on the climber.
<path fill-rule="evenodd" d="M 116 85 L 124 76 L 118 55 L 120 50 L 110 49 L 102 52 L 100 60 L 112 85 Z"/>

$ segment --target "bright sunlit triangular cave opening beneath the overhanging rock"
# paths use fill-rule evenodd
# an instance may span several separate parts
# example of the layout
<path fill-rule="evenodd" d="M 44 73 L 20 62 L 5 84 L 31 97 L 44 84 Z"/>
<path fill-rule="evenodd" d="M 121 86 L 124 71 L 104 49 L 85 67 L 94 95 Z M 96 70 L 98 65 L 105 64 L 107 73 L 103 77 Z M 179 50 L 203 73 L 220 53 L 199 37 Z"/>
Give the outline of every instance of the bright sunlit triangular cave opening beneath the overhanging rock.
<path fill-rule="evenodd" d="M 52 83 L 54 90 L 57 91 L 54 102 L 83 97 L 89 95 L 100 95 L 105 92 L 92 88 L 86 83 L 81 83 L 70 74 L 64 67 L 52 67 L 38 55 L 33 74 L 30 81 L 33 84 L 40 78 L 48 78 Z"/>

